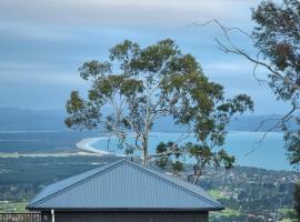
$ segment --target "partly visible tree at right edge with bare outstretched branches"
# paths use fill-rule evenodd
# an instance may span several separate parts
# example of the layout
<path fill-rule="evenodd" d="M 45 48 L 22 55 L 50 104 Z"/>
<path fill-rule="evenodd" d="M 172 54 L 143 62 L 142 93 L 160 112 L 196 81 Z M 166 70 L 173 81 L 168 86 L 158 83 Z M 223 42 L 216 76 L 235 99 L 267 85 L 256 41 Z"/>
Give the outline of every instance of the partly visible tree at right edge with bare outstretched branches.
<path fill-rule="evenodd" d="M 259 82 L 267 82 L 278 100 L 290 104 L 290 111 L 269 131 L 280 128 L 284 132 L 289 161 L 298 167 L 300 164 L 300 1 L 262 1 L 252 10 L 252 20 L 256 23 L 252 33 L 247 33 L 239 28 L 226 28 L 216 20 L 208 23 L 214 22 L 223 31 L 226 41 L 216 39 L 221 50 L 242 56 L 253 62 L 256 79 Z M 250 39 L 257 49 L 256 56 L 248 53 L 232 41 L 233 31 Z M 267 79 L 257 75 L 258 67 L 264 68 Z M 299 199 L 299 185 L 297 185 L 297 203 Z M 297 210 L 298 206 L 299 204 L 296 204 Z"/>

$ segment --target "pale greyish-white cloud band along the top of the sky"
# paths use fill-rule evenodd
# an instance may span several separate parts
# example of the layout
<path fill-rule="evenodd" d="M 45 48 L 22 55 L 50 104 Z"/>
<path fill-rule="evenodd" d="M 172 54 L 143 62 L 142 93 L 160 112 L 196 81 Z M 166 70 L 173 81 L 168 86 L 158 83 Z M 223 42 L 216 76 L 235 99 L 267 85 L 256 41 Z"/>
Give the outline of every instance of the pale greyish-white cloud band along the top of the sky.
<path fill-rule="evenodd" d="M 0 1 L 2 21 L 71 26 L 187 26 L 206 21 L 249 20 L 258 0 L 13 0 Z M 233 12 L 233 13 L 232 13 Z"/>

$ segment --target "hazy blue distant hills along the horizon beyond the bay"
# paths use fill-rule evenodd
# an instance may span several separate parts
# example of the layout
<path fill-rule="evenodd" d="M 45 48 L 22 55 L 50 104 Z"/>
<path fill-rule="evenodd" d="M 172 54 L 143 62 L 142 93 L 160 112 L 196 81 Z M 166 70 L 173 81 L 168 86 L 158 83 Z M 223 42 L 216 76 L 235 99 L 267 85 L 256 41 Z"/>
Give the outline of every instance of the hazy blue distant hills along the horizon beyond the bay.
<path fill-rule="evenodd" d="M 29 110 L 18 108 L 0 108 L 0 131 L 64 131 L 63 120 L 67 117 L 63 110 Z M 269 130 L 279 119 L 278 114 L 269 115 L 241 115 L 229 124 L 230 131 L 257 131 L 262 121 L 266 123 L 259 131 Z M 154 131 L 180 132 L 182 128 L 173 124 L 172 118 L 158 121 Z"/>

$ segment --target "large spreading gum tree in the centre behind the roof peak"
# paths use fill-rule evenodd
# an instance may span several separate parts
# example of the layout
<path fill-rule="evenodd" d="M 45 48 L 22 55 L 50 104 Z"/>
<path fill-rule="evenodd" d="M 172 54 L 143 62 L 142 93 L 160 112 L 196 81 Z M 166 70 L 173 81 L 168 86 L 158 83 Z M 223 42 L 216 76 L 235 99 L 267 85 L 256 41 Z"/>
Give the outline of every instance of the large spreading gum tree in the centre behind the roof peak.
<path fill-rule="evenodd" d="M 171 163 L 179 172 L 183 155 L 191 154 L 200 161 L 202 150 L 210 148 L 206 164 L 213 160 L 232 167 L 234 159 L 224 150 L 212 153 L 211 149 L 223 144 L 229 120 L 252 109 L 253 103 L 244 94 L 226 100 L 223 88 L 210 82 L 196 59 L 182 53 L 172 40 L 146 48 L 126 40 L 110 50 L 108 61 L 86 62 L 79 70 L 91 89 L 87 99 L 80 98 L 78 91 L 71 92 L 66 105 L 67 127 L 104 130 L 118 138 L 126 154 L 141 152 L 143 165 L 157 160 L 161 167 Z M 112 108 L 107 115 L 102 111 L 106 107 Z M 186 130 L 177 141 L 160 143 L 157 153 L 151 153 L 149 135 L 163 117 L 172 117 Z M 183 145 L 190 137 L 198 139 L 198 147 Z M 213 147 L 208 145 L 209 140 Z"/>

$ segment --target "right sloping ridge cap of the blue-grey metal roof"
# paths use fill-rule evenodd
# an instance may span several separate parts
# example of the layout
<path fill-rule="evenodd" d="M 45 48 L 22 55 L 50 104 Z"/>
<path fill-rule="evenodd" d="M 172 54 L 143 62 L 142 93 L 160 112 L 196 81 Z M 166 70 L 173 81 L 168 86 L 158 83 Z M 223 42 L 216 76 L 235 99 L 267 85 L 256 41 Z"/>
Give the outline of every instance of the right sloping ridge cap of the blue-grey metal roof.
<path fill-rule="evenodd" d="M 133 167 L 136 167 L 136 168 L 138 168 L 138 169 L 144 171 L 146 173 L 151 174 L 151 175 L 154 175 L 156 178 L 159 178 L 159 179 L 163 180 L 164 182 L 168 182 L 169 184 L 172 184 L 172 185 L 176 186 L 176 188 L 179 188 L 179 189 L 181 189 L 181 190 L 183 190 L 183 191 L 186 191 L 186 192 L 189 192 L 190 194 L 192 194 L 192 195 L 194 195 L 194 196 L 197 196 L 197 198 L 199 198 L 199 199 L 202 199 L 202 200 L 204 200 L 204 201 L 211 203 L 212 205 L 222 208 L 222 205 L 221 205 L 218 201 L 209 200 L 209 199 L 207 199 L 207 198 L 200 195 L 199 193 L 197 193 L 197 192 L 194 192 L 194 191 L 191 191 L 191 190 L 189 190 L 189 189 L 187 189 L 187 188 L 184 188 L 184 186 L 182 186 L 182 185 L 180 185 L 180 184 L 178 184 L 178 183 L 171 181 L 171 180 L 174 180 L 174 178 L 172 178 L 172 176 L 170 176 L 170 175 L 168 175 L 168 174 L 166 174 L 166 173 L 162 173 L 162 172 L 159 172 L 159 171 L 154 171 L 154 170 L 152 170 L 152 169 L 150 169 L 150 168 L 146 168 L 146 167 L 143 167 L 143 165 L 140 165 L 140 164 L 138 164 L 138 163 L 134 163 L 134 162 L 131 162 L 131 161 L 128 161 L 128 160 L 126 160 L 124 162 L 130 163 L 130 164 L 132 164 Z M 158 175 L 158 174 L 162 174 L 163 178 L 160 176 L 160 175 Z M 169 179 L 170 179 L 170 180 L 169 180 Z M 188 182 L 186 182 L 186 181 L 180 181 L 180 182 L 187 183 L 188 185 L 193 185 L 193 184 L 188 183 Z M 199 189 L 199 186 L 196 186 L 196 185 L 193 185 L 193 186 L 197 188 L 197 189 Z"/>

